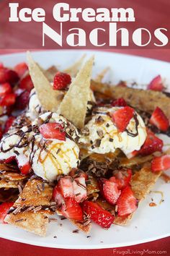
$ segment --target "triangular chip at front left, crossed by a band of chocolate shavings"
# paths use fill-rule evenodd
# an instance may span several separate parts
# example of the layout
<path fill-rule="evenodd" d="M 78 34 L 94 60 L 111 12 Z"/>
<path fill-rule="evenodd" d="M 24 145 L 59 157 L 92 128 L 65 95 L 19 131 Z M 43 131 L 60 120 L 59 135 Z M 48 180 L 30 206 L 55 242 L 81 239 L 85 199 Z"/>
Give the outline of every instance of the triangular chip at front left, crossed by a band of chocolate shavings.
<path fill-rule="evenodd" d="M 53 188 L 40 179 L 31 179 L 9 210 L 5 221 L 14 226 L 45 236 Z"/>

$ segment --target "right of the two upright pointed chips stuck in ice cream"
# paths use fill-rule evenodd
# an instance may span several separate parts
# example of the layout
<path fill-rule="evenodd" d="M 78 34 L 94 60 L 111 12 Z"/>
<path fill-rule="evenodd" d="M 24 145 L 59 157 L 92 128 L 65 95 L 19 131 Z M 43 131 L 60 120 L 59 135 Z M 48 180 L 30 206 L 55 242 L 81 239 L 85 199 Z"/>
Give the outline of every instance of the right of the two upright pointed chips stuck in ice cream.
<path fill-rule="evenodd" d="M 58 110 L 79 129 L 84 127 L 93 62 L 94 57 L 91 57 L 80 69 Z"/>

